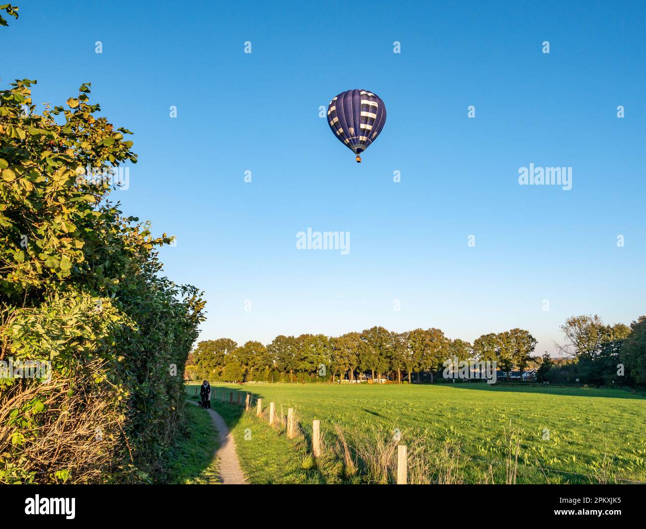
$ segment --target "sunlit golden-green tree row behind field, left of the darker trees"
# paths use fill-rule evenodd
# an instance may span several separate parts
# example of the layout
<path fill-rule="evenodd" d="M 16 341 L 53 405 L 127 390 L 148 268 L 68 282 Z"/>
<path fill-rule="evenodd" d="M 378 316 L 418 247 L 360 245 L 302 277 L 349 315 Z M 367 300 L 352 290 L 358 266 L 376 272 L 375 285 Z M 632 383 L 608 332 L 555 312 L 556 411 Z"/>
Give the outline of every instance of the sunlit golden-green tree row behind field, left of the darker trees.
<path fill-rule="evenodd" d="M 469 343 L 450 339 L 437 328 L 392 332 L 375 326 L 362 332 L 328 337 L 324 334 L 276 336 L 264 345 L 248 341 L 238 346 L 229 338 L 198 343 L 189 356 L 187 374 L 225 381 L 315 381 L 366 376 L 420 381 L 422 372 L 441 370 L 446 359 L 477 357 L 497 361 L 504 370 L 523 371 L 532 361 L 536 339 L 524 329 L 490 333 Z"/>

